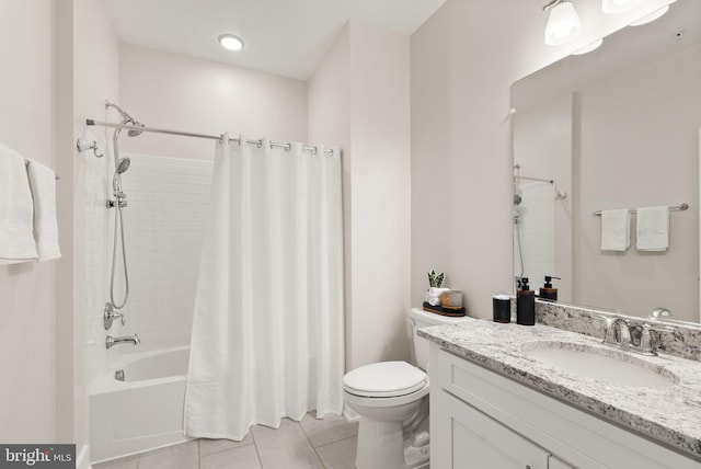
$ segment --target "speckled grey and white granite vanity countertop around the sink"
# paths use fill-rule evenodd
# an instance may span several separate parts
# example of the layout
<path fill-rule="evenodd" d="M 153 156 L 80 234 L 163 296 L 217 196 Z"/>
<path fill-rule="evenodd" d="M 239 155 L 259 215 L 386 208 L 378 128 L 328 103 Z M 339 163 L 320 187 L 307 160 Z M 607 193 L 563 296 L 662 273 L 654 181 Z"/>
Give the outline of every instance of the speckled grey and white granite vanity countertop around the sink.
<path fill-rule="evenodd" d="M 435 325 L 418 335 L 473 363 L 507 376 L 543 393 L 612 421 L 694 459 L 701 460 L 701 363 L 671 355 L 647 357 L 622 354 L 599 340 L 549 325 L 501 324 L 490 320 Z M 540 342 L 540 344 L 539 344 Z M 621 356 L 663 375 L 676 384 L 662 388 L 614 386 L 549 367 L 524 354 L 545 342 L 596 348 L 605 356 Z"/>

